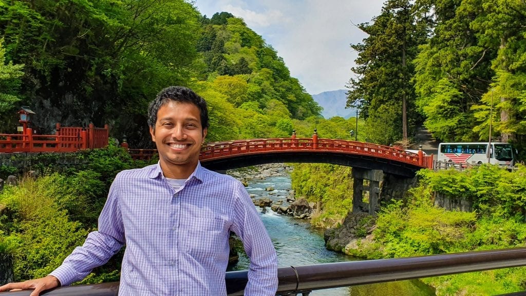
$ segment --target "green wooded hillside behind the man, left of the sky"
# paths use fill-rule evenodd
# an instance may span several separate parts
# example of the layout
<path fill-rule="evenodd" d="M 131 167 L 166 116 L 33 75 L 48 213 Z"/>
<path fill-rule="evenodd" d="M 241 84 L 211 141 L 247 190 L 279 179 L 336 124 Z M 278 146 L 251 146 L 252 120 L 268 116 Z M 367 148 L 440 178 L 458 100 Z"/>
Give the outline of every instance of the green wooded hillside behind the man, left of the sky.
<path fill-rule="evenodd" d="M 168 85 L 191 87 L 208 100 L 209 141 L 289 136 L 292 120 L 321 111 L 242 19 L 209 19 L 184 0 L 1 0 L 0 36 L 0 73 L 12 69 L 9 80 L 0 75 L 0 86 L 11 84 L 9 96 L 0 95 L 0 112 L 31 106 L 39 133 L 56 122 L 93 122 L 109 124 L 130 147 L 152 146 L 147 104 Z M 9 117 L 0 117 L 0 132 L 14 132 Z"/>

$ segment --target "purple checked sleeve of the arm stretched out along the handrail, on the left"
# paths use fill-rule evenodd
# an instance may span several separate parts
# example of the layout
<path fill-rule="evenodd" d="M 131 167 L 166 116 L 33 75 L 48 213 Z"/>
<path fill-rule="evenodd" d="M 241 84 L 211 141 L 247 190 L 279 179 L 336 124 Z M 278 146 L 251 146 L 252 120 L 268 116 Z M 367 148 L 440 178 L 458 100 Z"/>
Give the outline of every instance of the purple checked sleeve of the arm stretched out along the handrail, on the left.
<path fill-rule="evenodd" d="M 83 280 L 94 268 L 108 262 L 124 245 L 124 226 L 116 182 L 117 178 L 109 190 L 108 199 L 99 215 L 98 231 L 89 233 L 84 244 L 77 246 L 62 265 L 50 273 L 60 281 L 61 285 L 70 285 Z"/>

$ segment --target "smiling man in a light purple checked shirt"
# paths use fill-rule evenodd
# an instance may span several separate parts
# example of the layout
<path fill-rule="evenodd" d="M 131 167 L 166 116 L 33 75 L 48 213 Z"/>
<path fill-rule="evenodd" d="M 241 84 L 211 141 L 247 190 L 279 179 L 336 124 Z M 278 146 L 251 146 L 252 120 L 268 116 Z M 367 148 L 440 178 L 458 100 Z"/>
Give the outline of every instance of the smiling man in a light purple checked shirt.
<path fill-rule="evenodd" d="M 205 100 L 186 87 L 167 87 L 150 103 L 148 125 L 159 162 L 117 174 L 98 230 L 60 267 L 0 292 L 34 289 L 37 296 L 80 281 L 126 245 L 119 295 L 226 295 L 233 231 L 250 258 L 245 295 L 276 294 L 276 251 L 244 186 L 199 163 L 208 131 Z"/>

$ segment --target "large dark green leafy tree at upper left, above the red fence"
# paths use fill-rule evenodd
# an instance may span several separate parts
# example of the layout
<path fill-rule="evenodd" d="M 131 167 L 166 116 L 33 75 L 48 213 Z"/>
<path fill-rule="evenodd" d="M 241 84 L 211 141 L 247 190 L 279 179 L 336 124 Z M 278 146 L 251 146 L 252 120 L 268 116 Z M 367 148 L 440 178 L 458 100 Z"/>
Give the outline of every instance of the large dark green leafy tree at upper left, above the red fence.
<path fill-rule="evenodd" d="M 144 111 L 169 84 L 188 84 L 200 15 L 184 0 L 2 1 L 7 54 L 26 65 L 33 124 L 112 123 L 130 144 L 150 142 Z"/>

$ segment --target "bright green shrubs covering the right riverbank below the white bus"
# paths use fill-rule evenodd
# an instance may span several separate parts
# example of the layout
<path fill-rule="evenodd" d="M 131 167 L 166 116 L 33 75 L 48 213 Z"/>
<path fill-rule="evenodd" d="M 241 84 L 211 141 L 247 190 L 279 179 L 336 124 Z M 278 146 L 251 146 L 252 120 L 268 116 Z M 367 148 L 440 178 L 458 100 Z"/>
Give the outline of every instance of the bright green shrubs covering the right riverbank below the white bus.
<path fill-rule="evenodd" d="M 508 172 L 482 165 L 465 172 L 421 171 L 420 184 L 406 201 L 385 206 L 378 214 L 375 240 L 351 254 L 367 258 L 504 249 L 524 246 L 526 167 Z M 437 194 L 463 198 L 473 212 L 434 206 Z M 423 279 L 437 295 L 494 295 L 522 291 L 526 269 L 491 270 Z M 491 283 L 491 284 L 489 284 Z"/>

